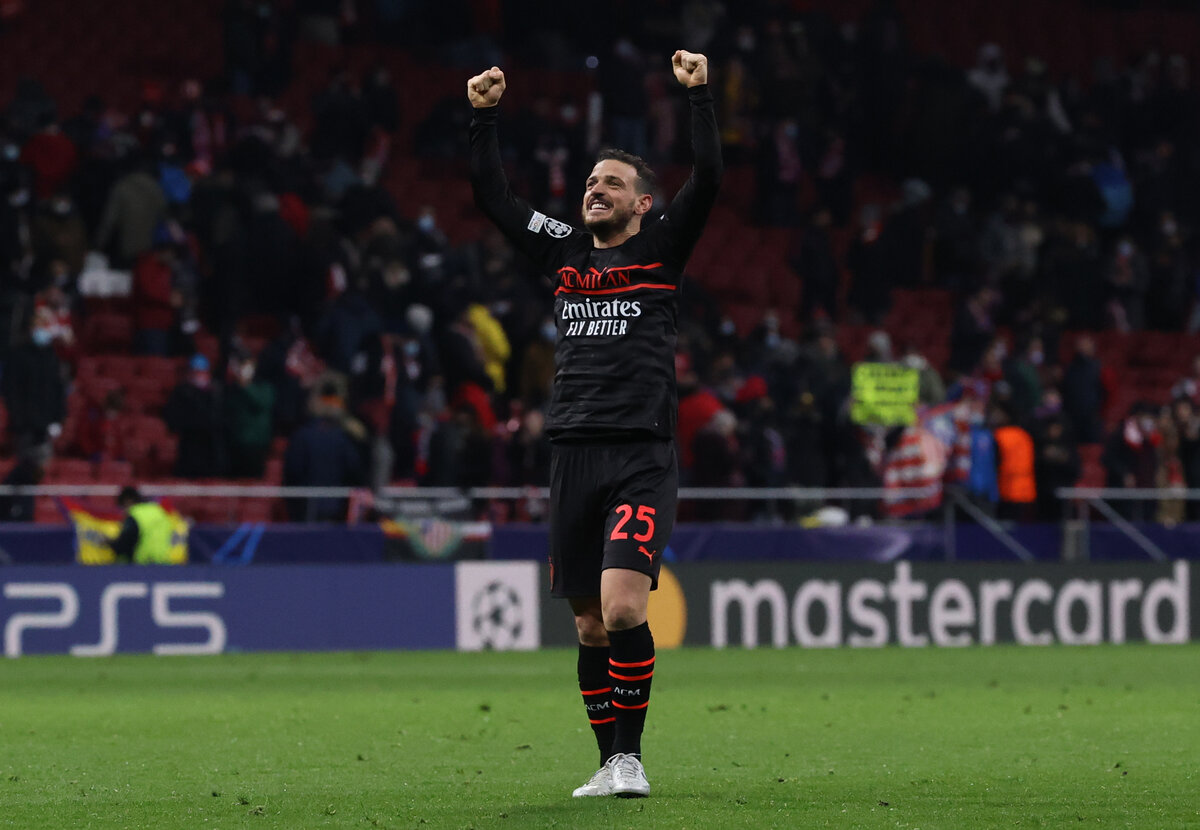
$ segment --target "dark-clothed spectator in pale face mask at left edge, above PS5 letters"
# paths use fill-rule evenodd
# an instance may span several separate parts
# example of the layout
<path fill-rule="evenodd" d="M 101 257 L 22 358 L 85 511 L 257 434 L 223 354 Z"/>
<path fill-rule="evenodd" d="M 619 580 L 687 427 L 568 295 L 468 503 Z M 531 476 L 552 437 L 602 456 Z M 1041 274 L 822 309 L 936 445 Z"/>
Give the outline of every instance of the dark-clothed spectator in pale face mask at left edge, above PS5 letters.
<path fill-rule="evenodd" d="M 22 342 L 4 362 L 8 437 L 18 451 L 62 433 L 67 398 L 62 363 L 54 351 L 54 326 L 53 313 L 44 306 L 37 308 Z"/>

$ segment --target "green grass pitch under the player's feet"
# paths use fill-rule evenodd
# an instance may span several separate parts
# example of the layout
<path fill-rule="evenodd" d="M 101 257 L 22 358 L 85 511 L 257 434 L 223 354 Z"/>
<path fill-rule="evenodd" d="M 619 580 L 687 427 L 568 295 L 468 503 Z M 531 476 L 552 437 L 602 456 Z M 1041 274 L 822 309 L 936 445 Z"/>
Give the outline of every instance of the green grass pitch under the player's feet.
<path fill-rule="evenodd" d="M 1200 646 L 662 651 L 654 793 L 595 765 L 575 654 L 0 664 L 7 828 L 1184 828 Z"/>

